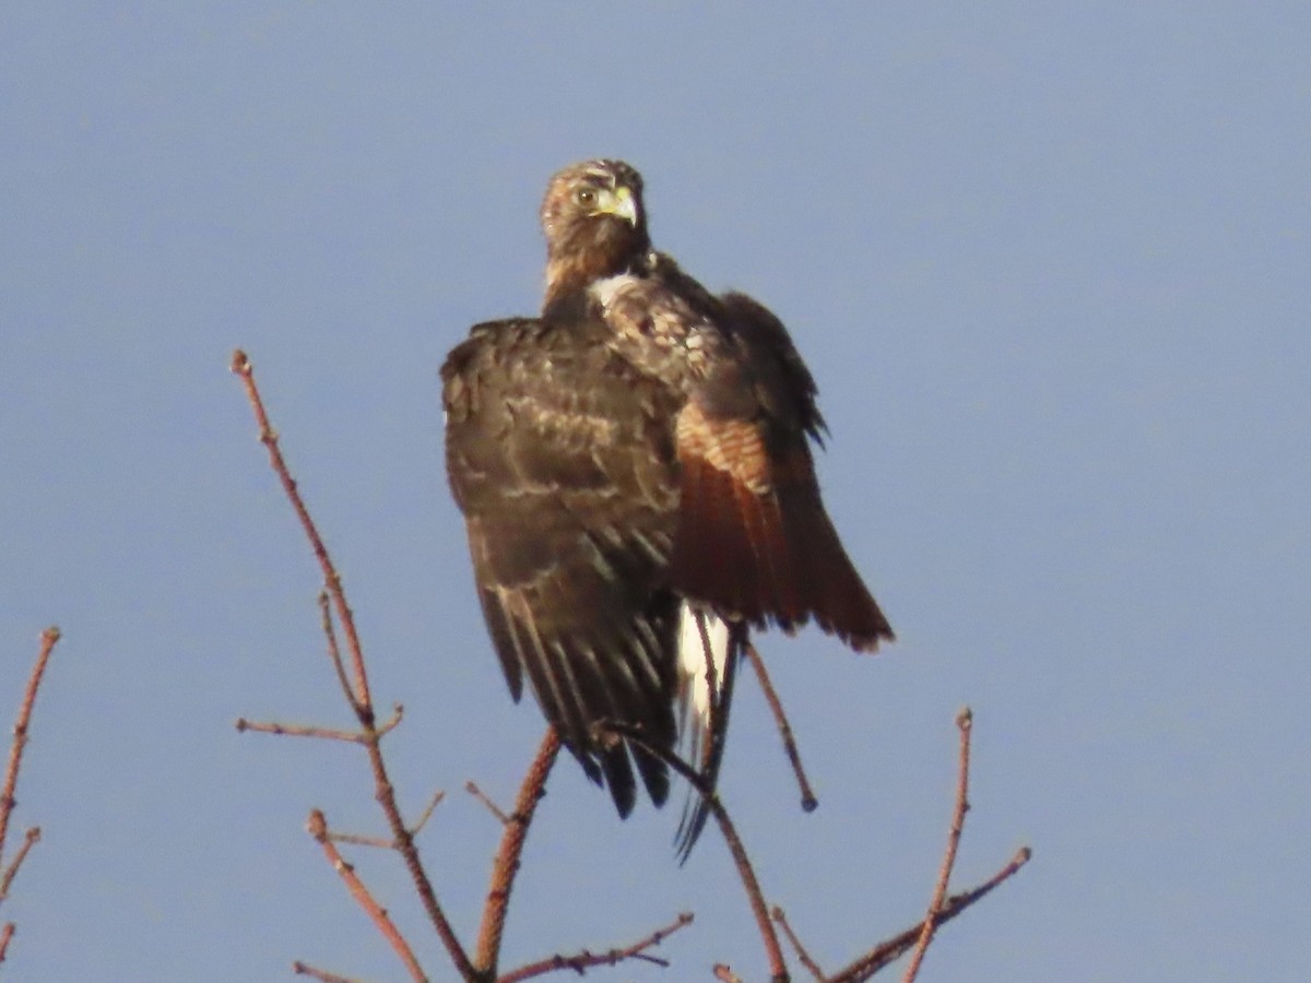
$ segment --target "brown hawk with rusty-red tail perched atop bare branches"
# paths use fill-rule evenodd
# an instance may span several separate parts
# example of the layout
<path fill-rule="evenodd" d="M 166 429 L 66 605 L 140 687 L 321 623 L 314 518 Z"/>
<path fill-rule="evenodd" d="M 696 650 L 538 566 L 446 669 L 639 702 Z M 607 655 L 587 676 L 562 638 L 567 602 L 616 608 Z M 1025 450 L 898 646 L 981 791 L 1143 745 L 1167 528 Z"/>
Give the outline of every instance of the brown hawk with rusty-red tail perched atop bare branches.
<path fill-rule="evenodd" d="M 628 815 L 633 765 L 669 796 L 642 744 L 714 781 L 747 626 L 814 620 L 857 651 L 893 633 L 825 512 L 783 322 L 656 252 L 621 161 L 552 177 L 541 228 L 541 313 L 475 325 L 442 368 L 447 472 L 511 695 L 527 676 Z M 684 858 L 704 822 L 690 801 Z"/>

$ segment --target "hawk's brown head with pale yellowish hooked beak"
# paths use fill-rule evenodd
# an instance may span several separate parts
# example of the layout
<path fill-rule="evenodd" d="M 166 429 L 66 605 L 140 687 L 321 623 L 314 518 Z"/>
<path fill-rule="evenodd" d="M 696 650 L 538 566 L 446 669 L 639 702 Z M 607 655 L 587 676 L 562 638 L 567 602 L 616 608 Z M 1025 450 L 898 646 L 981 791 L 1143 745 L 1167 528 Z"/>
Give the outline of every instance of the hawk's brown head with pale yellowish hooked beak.
<path fill-rule="evenodd" d="M 547 303 L 636 265 L 650 249 L 642 176 L 620 160 L 586 160 L 551 178 L 541 202 Z"/>

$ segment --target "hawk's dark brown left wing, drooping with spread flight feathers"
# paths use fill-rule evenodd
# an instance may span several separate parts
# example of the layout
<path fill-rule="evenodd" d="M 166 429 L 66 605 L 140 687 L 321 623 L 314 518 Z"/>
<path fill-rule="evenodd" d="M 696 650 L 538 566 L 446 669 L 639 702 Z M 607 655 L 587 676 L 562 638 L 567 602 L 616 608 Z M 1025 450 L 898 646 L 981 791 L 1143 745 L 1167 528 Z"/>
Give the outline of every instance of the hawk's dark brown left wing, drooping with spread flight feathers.
<path fill-rule="evenodd" d="M 631 763 L 662 803 L 663 763 L 593 725 L 675 742 L 671 393 L 615 358 L 599 321 L 479 325 L 442 377 L 447 472 L 511 693 L 519 699 L 527 676 L 620 814 L 635 802 Z"/>

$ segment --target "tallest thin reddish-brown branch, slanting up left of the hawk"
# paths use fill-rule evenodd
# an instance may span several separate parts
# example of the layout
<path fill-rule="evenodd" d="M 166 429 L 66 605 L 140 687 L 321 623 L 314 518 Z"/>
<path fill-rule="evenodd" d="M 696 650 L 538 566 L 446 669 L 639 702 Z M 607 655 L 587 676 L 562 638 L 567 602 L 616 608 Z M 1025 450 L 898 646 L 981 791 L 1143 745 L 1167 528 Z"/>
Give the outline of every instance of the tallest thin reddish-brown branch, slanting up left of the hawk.
<path fill-rule="evenodd" d="M 420 860 L 418 848 L 414 844 L 414 836 L 410 830 L 406 828 L 405 820 L 401 818 L 400 806 L 396 801 L 396 789 L 388 776 L 387 764 L 382 755 L 382 744 L 379 741 L 380 734 L 375 726 L 374 704 L 368 689 L 368 675 L 364 671 L 364 651 L 359 641 L 359 633 L 355 628 L 355 616 L 350 609 L 350 604 L 346 603 L 346 594 L 342 588 L 341 575 L 337 573 L 337 568 L 333 565 L 332 558 L 328 554 L 328 548 L 324 545 L 323 537 L 319 535 L 319 530 L 315 526 L 313 519 L 309 516 L 309 510 L 305 507 L 305 503 L 300 497 L 296 482 L 291 477 L 291 472 L 287 469 L 287 464 L 282 457 L 282 451 L 278 447 L 277 431 L 274 431 L 270 425 L 269 415 L 264 408 L 264 400 L 260 397 L 260 389 L 254 381 L 254 370 L 250 366 L 250 359 L 240 349 L 232 353 L 232 371 L 241 376 L 246 398 L 250 401 L 256 423 L 260 427 L 260 440 L 269 452 L 269 463 L 273 467 L 274 473 L 277 473 L 278 480 L 282 482 L 287 501 L 296 512 L 302 530 L 309 540 L 315 557 L 319 560 L 319 566 L 324 575 L 324 585 L 332 598 L 333 608 L 337 612 L 337 620 L 341 621 L 342 632 L 346 637 L 346 650 L 350 654 L 350 662 L 354 671 L 354 685 L 351 687 L 350 703 L 357 718 L 359 720 L 361 729 L 364 731 L 367 738 L 364 741 L 364 748 L 368 752 L 368 761 L 374 771 L 374 794 L 383 809 L 383 814 L 387 817 L 387 823 L 391 827 L 393 839 L 396 840 L 396 852 L 401 855 L 401 860 L 404 861 L 405 869 L 410 876 L 410 881 L 414 883 L 414 890 L 423 904 L 423 910 L 427 914 L 434 931 L 446 946 L 446 950 L 451 957 L 451 962 L 455 965 L 456 973 L 459 973 L 463 979 L 477 979 L 477 974 L 469 962 L 468 954 L 464 952 L 464 946 L 460 944 L 459 937 L 455 935 L 455 929 L 447 920 L 446 912 L 442 911 L 440 903 L 438 903 L 437 893 L 433 890 L 433 883 L 427 877 L 427 872 L 423 869 L 422 861 Z M 334 634 L 329 633 L 329 647 L 333 647 Z"/>

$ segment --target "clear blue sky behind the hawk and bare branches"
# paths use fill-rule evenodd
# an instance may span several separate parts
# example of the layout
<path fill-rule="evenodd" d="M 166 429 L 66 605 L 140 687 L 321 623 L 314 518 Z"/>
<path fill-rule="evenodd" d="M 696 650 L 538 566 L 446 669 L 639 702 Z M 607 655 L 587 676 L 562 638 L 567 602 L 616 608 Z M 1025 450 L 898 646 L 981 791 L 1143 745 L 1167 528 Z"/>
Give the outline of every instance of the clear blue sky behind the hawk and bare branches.
<path fill-rule="evenodd" d="M 473 931 L 541 731 L 506 695 L 440 460 L 437 368 L 535 309 L 547 176 L 620 156 L 657 244 L 791 326 L 830 510 L 901 641 L 764 637 L 725 793 L 836 967 L 926 903 L 924 979 L 1311 978 L 1311 10 L 1306 4 L 7 7 L 0 26 L 0 716 L 59 623 L 0 915 L 8 976 L 401 970 L 303 832 L 376 830 L 316 568 L 236 379 L 254 363 L 341 565 L 422 845 Z M 619 823 L 562 767 L 507 962 L 635 940 L 762 979 L 713 835 Z M 448 978 L 399 865 L 361 869 Z M 1302 938 L 1302 942 L 1297 940 Z"/>

